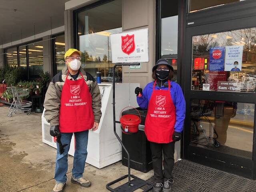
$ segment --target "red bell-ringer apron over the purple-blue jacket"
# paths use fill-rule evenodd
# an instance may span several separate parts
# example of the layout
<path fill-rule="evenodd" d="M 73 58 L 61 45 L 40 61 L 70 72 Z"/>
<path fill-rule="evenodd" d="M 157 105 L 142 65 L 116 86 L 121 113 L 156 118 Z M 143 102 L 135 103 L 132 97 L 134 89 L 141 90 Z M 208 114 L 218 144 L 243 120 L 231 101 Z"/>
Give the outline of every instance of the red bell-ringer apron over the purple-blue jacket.
<path fill-rule="evenodd" d="M 152 96 L 148 104 L 145 122 L 145 134 L 150 142 L 170 143 L 176 123 L 176 108 L 173 104 L 168 80 L 168 90 L 155 90 L 154 82 Z"/>

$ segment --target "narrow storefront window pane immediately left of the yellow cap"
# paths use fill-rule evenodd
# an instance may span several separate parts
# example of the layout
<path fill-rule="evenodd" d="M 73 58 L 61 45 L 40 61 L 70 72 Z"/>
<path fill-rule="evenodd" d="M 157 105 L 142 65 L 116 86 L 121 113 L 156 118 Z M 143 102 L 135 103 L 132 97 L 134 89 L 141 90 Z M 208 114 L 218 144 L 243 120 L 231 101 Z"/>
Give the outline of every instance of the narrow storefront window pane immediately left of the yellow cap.
<path fill-rule="evenodd" d="M 56 63 L 56 72 L 60 72 L 65 67 L 65 35 L 56 36 L 54 39 L 54 48 L 55 48 L 55 63 Z"/>

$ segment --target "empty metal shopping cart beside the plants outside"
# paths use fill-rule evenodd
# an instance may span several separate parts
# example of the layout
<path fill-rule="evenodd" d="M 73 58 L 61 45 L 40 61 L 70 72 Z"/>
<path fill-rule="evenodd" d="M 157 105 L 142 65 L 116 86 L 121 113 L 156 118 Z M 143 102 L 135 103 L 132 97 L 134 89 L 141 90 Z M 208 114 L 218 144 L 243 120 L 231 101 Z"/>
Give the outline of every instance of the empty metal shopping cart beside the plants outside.
<path fill-rule="evenodd" d="M 28 96 L 29 90 L 16 87 L 7 87 L 7 89 L 11 90 L 13 95 L 13 102 L 9 108 L 8 116 L 11 117 L 17 111 L 26 111 L 27 115 L 30 115 L 31 108 L 28 107 L 32 106 L 32 102 L 22 100 L 23 97 Z"/>

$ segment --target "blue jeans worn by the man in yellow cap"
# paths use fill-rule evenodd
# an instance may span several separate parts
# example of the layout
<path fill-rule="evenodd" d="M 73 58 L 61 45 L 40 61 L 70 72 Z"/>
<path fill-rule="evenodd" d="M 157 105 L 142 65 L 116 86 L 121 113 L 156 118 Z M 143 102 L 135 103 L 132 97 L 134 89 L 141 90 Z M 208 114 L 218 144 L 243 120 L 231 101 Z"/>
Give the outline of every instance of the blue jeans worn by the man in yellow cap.
<path fill-rule="evenodd" d="M 87 157 L 87 143 L 88 143 L 88 130 L 82 132 L 75 132 L 76 137 L 76 150 L 74 154 L 74 162 L 72 169 L 73 178 L 80 178 L 84 173 L 85 160 Z M 59 144 L 57 142 L 57 157 L 55 166 L 54 179 L 57 182 L 64 183 L 67 181 L 66 172 L 68 171 L 68 150 L 73 133 L 61 133 L 62 145 L 68 144 L 64 147 L 64 153 L 60 154 Z"/>

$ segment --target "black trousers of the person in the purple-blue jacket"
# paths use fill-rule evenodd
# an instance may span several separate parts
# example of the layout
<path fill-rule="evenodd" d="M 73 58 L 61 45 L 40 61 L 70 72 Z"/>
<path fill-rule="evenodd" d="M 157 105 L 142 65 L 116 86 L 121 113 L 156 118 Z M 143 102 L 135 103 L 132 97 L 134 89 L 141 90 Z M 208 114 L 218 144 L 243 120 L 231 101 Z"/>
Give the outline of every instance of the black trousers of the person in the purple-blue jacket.
<path fill-rule="evenodd" d="M 174 143 L 154 143 L 150 142 L 150 148 L 152 153 L 152 162 L 154 168 L 154 177 L 157 183 L 167 181 L 172 176 L 172 170 L 174 166 Z M 164 152 L 164 174 L 162 170 Z"/>

